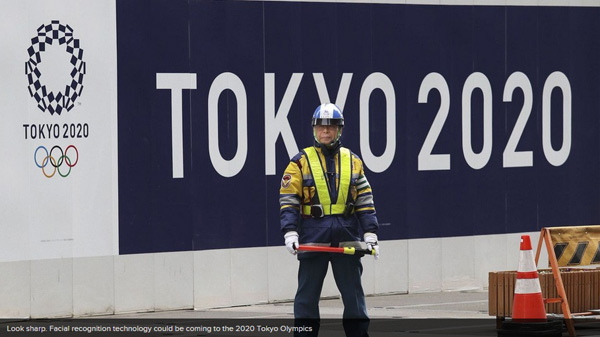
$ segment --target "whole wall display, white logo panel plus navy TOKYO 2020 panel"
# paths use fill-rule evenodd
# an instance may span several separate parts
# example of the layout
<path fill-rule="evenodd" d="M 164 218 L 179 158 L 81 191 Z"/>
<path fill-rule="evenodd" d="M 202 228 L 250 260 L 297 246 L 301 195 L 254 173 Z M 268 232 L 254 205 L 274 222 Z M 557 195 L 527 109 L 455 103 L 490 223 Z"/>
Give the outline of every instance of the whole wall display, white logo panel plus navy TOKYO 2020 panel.
<path fill-rule="evenodd" d="M 381 240 L 600 223 L 598 7 L 31 0 L 0 18 L 0 261 L 281 245 L 281 175 L 322 102 Z"/>

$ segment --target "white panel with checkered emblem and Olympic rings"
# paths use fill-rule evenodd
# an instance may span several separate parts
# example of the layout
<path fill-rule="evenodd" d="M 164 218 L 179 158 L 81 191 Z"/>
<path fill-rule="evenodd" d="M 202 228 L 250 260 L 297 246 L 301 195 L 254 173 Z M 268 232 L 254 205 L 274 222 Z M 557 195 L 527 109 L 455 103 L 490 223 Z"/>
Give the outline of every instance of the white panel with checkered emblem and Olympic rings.
<path fill-rule="evenodd" d="M 0 262 L 118 254 L 113 0 L 3 1 Z"/>

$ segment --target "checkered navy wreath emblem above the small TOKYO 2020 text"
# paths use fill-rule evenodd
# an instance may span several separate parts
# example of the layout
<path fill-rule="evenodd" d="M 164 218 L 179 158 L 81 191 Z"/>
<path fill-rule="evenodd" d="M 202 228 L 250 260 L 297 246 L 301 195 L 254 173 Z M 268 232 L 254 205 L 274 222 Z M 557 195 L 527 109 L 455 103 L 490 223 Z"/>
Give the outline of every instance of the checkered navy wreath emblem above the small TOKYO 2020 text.
<path fill-rule="evenodd" d="M 46 45 L 58 42 L 65 45 L 67 53 L 71 55 L 71 83 L 65 84 L 65 89 L 55 93 L 48 92 L 40 78 L 42 74 L 38 65 L 42 62 L 42 52 Z M 73 38 L 73 29 L 69 25 L 62 25 L 58 20 L 53 20 L 49 25 L 41 25 L 37 29 L 37 35 L 31 39 L 31 47 L 27 49 L 29 61 L 25 62 L 25 75 L 29 81 L 29 94 L 35 98 L 38 108 L 49 111 L 51 115 L 60 113 L 66 109 L 73 109 L 75 100 L 81 96 L 83 91 L 83 75 L 85 74 L 85 62 L 83 61 L 83 49 L 79 46 L 79 39 Z"/>

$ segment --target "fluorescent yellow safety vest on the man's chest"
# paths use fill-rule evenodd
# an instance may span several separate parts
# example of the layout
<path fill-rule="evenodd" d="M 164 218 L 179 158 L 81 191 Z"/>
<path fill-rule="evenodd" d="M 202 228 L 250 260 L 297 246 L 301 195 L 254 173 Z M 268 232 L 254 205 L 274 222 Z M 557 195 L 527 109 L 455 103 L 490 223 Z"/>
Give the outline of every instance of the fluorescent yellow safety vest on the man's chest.
<path fill-rule="evenodd" d="M 310 171 L 312 172 L 313 180 L 315 181 L 319 201 L 323 206 L 323 214 L 344 214 L 346 200 L 348 199 L 348 191 L 350 190 L 350 179 L 352 178 L 352 155 L 350 150 L 345 147 L 340 148 L 340 180 L 338 198 L 335 204 L 331 203 L 329 187 L 327 180 L 325 179 L 325 173 L 323 172 L 323 166 L 321 165 L 317 150 L 310 146 L 304 149 L 304 153 L 306 153 Z M 310 214 L 310 205 L 304 205 L 302 210 L 304 214 Z"/>

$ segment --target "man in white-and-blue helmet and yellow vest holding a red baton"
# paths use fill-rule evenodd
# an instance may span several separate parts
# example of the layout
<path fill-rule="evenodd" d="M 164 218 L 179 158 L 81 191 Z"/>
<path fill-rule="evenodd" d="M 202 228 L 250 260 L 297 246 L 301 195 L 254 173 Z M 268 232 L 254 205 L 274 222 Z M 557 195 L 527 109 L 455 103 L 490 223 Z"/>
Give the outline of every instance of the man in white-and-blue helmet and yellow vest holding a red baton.
<path fill-rule="evenodd" d="M 379 225 L 371 186 L 360 158 L 341 146 L 342 111 L 334 104 L 322 104 L 313 114 L 312 126 L 314 145 L 291 159 L 279 195 L 285 245 L 300 262 L 294 317 L 297 325 L 300 321 L 311 323 L 312 332 L 304 335 L 318 334 L 319 299 L 331 263 L 344 304 L 346 336 L 368 336 L 360 257 L 296 250 L 299 244 L 360 247 L 362 236 L 375 259 L 379 257 Z"/>

